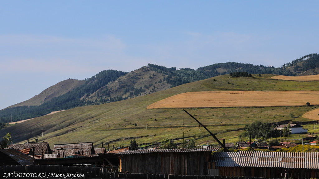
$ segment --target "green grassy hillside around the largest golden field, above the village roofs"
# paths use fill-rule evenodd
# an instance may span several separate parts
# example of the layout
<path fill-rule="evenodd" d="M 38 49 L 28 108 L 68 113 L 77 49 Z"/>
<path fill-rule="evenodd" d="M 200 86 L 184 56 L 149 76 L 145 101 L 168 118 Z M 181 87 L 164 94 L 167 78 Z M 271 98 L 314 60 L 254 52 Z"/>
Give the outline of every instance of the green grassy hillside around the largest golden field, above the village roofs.
<path fill-rule="evenodd" d="M 318 81 L 286 81 L 271 79 L 274 75 L 254 78 L 232 78 L 229 75 L 188 83 L 165 91 L 107 104 L 73 108 L 56 114 L 41 116 L 0 131 L 0 136 L 10 132 L 13 142 L 39 138 L 54 144 L 93 142 L 100 146 L 108 142 L 110 148 L 129 145 L 135 138 L 138 144 L 156 144 L 163 138 L 182 142 L 194 138 L 197 143 L 216 144 L 209 133 L 182 109 L 147 109 L 156 101 L 179 93 L 219 90 L 319 90 Z M 256 120 L 268 122 L 311 121 L 303 118 L 307 111 L 318 106 L 287 106 L 264 108 L 188 108 L 190 114 L 208 127 L 220 139 L 238 140 L 246 123 Z M 183 125 L 184 121 L 184 125 Z M 135 123 L 137 126 L 135 126 Z M 147 126 L 147 129 L 146 129 Z M 43 131 L 43 137 L 42 137 Z M 318 132 L 309 128 L 309 132 Z M 292 135 L 290 138 L 293 138 Z M 299 138 L 299 136 L 298 136 Z M 107 146 L 107 145 L 105 145 Z"/>

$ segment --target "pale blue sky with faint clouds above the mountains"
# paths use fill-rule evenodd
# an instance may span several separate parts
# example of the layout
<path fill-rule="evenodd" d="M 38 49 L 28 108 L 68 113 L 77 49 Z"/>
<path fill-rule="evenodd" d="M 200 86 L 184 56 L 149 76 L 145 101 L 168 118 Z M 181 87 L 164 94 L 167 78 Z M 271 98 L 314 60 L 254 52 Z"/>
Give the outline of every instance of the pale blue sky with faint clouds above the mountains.
<path fill-rule="evenodd" d="M 318 53 L 318 1 L 0 1 L 0 109 L 147 63 L 280 67 Z"/>

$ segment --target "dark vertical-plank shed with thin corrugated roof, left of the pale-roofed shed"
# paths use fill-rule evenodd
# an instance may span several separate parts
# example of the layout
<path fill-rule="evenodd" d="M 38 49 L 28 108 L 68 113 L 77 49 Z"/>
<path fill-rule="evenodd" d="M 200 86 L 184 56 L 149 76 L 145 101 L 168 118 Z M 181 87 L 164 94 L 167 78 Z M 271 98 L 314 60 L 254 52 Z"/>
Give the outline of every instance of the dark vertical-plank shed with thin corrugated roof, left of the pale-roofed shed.
<path fill-rule="evenodd" d="M 220 148 L 128 150 L 117 153 L 120 171 L 144 174 L 208 175 L 211 153 Z"/>

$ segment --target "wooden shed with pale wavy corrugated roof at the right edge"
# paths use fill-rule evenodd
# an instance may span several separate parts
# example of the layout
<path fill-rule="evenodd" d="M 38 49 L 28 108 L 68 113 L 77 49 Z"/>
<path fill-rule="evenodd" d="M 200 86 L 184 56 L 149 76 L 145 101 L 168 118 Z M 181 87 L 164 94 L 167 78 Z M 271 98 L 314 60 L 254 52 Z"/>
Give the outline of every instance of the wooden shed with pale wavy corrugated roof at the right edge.
<path fill-rule="evenodd" d="M 318 178 L 319 153 L 215 152 L 216 175 L 263 178 Z"/>

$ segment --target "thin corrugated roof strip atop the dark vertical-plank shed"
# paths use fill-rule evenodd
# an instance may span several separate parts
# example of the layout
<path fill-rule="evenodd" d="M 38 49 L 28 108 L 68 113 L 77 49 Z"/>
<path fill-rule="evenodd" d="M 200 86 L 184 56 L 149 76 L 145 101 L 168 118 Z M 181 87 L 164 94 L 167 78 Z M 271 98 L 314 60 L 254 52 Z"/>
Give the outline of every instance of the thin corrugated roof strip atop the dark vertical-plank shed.
<path fill-rule="evenodd" d="M 211 148 L 197 148 L 197 149 L 140 149 L 140 150 L 127 150 L 115 154 L 139 154 L 139 153 L 189 153 L 189 152 L 212 152 L 218 151 L 220 147 L 211 147 Z"/>

